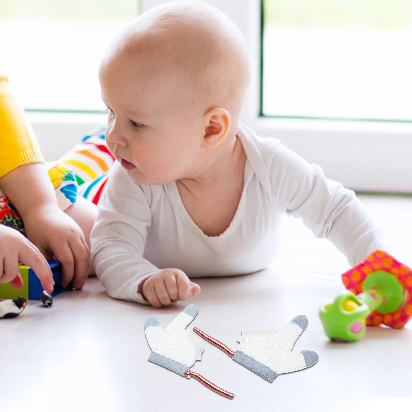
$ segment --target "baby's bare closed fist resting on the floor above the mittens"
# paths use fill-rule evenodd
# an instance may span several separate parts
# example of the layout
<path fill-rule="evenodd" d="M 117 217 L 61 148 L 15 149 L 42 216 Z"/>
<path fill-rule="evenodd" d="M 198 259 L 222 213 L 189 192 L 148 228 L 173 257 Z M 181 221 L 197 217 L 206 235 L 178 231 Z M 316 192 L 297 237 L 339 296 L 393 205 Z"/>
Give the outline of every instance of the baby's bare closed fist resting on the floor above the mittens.
<path fill-rule="evenodd" d="M 155 308 L 159 308 L 175 300 L 199 295 L 200 286 L 190 281 L 180 269 L 168 268 L 140 283 L 139 293 Z"/>

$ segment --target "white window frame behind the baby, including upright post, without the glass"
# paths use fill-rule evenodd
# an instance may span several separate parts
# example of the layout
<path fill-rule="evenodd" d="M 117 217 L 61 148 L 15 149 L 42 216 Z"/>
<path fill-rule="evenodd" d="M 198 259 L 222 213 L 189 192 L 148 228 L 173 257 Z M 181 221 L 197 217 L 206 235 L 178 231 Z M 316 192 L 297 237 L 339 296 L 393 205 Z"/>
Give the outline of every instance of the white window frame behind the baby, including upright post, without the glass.
<path fill-rule="evenodd" d="M 166 1 L 140 0 L 140 10 L 145 12 Z M 251 82 L 243 106 L 244 123 L 259 136 L 279 138 L 308 162 L 322 166 L 328 178 L 346 187 L 360 192 L 412 194 L 408 155 L 412 154 L 412 123 L 263 116 L 262 0 L 206 1 L 236 23 L 248 44 Z M 82 133 L 101 124 L 104 116 L 37 111 L 28 115 L 44 152 L 56 136 L 64 137 L 64 149 L 77 143 Z M 46 158 L 52 156 L 56 156 L 56 150 L 45 153 Z"/>

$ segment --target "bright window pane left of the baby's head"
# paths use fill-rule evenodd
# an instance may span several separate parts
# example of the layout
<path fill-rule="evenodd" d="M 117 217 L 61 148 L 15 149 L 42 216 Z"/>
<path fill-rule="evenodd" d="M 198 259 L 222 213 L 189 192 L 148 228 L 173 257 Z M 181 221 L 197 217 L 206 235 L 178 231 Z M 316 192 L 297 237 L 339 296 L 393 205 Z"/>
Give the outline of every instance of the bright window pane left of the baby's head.
<path fill-rule="evenodd" d="M 1 0 L 0 70 L 35 110 L 104 109 L 97 70 L 138 0 Z"/>

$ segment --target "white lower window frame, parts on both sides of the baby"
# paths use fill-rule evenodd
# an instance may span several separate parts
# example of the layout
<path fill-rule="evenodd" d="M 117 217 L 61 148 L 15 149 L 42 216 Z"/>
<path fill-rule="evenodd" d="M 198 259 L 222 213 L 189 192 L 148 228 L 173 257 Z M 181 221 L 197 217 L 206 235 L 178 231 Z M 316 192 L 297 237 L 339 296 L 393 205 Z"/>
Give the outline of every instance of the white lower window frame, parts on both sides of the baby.
<path fill-rule="evenodd" d="M 105 114 L 29 112 L 47 161 L 79 143 Z M 257 118 L 247 124 L 262 137 L 276 137 L 328 178 L 355 190 L 412 192 L 412 124 Z"/>

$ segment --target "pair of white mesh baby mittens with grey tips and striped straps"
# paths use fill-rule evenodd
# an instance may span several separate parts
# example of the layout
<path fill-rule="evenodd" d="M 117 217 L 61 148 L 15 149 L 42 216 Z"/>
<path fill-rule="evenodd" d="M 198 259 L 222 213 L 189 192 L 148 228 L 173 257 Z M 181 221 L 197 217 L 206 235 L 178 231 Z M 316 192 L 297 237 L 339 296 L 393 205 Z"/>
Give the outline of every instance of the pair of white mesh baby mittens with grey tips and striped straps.
<path fill-rule="evenodd" d="M 233 399 L 234 394 L 216 386 L 208 379 L 190 370 L 201 360 L 204 351 L 197 335 L 227 353 L 234 361 L 272 382 L 281 373 L 308 368 L 318 361 L 318 354 L 312 351 L 291 352 L 296 339 L 308 324 L 304 315 L 293 318 L 281 333 L 274 329 L 242 330 L 234 352 L 225 344 L 197 328 L 186 330 L 197 315 L 195 305 L 189 305 L 162 329 L 157 316 L 149 316 L 145 322 L 147 343 L 152 349 L 149 361 L 164 366 L 187 378 L 194 377 L 216 393 Z M 196 332 L 196 334 L 195 334 Z"/>

